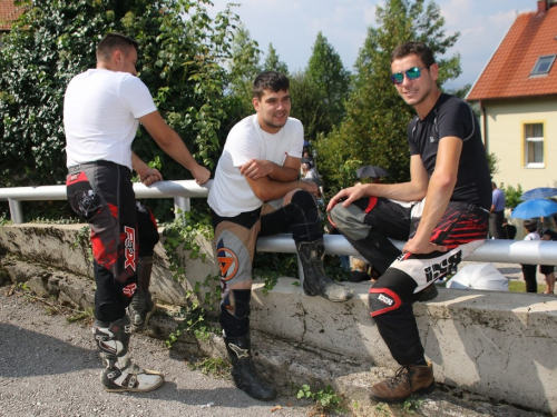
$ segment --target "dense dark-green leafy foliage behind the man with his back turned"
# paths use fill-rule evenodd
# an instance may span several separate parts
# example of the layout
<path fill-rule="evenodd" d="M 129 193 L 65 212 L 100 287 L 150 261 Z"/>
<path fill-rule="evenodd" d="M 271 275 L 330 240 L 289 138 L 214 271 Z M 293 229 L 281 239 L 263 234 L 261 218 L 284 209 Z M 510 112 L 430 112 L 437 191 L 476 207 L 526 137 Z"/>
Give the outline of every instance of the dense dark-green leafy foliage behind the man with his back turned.
<path fill-rule="evenodd" d="M 139 77 L 194 157 L 213 167 L 224 140 L 222 125 L 232 30 L 229 8 L 212 20 L 208 0 L 33 0 L 2 38 L 0 49 L 0 186 L 62 183 L 63 93 L 70 79 L 96 66 L 95 49 L 109 31 L 140 42 Z M 143 128 L 134 143 L 159 158 L 166 179 L 190 178 Z"/>

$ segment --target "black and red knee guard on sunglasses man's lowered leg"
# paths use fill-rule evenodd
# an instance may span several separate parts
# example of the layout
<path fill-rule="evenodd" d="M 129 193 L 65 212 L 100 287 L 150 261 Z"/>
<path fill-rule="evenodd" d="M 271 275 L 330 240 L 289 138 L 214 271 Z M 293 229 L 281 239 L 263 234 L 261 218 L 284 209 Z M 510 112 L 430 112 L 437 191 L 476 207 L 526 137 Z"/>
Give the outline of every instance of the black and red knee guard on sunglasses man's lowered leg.
<path fill-rule="evenodd" d="M 395 310 L 411 302 L 416 281 L 397 268 L 389 268 L 370 288 L 368 295 L 371 317 Z"/>

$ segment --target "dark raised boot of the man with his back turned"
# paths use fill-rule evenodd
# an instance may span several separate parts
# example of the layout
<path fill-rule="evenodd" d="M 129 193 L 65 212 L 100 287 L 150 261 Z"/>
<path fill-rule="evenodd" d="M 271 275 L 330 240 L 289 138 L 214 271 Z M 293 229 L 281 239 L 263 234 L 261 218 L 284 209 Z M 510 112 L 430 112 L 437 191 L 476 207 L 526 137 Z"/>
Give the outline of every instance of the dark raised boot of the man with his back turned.
<path fill-rule="evenodd" d="M 134 331 L 140 331 L 149 324 L 149 318 L 156 309 L 156 302 L 149 291 L 153 257 L 141 257 L 137 266 L 137 290 L 131 298 L 128 311 Z"/>

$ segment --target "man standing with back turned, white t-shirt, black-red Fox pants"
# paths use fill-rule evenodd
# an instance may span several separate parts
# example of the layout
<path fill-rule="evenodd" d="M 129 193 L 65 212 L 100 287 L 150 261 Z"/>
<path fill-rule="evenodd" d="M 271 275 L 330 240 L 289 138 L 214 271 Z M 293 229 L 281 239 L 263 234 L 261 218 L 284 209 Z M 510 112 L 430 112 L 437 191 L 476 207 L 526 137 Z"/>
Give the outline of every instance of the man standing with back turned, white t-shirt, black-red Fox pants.
<path fill-rule="evenodd" d="M 148 286 L 158 241 L 153 215 L 136 205 L 131 170 L 147 186 L 163 179 L 131 151 L 139 122 L 197 183 L 211 176 L 166 125 L 136 77 L 137 49 L 131 38 L 107 34 L 97 47 L 97 68 L 74 77 L 63 101 L 67 195 L 74 211 L 91 228 L 97 287 L 92 334 L 107 391 L 146 393 L 164 383 L 163 374 L 133 364 L 128 353 L 133 325 L 145 326 L 154 310 Z"/>

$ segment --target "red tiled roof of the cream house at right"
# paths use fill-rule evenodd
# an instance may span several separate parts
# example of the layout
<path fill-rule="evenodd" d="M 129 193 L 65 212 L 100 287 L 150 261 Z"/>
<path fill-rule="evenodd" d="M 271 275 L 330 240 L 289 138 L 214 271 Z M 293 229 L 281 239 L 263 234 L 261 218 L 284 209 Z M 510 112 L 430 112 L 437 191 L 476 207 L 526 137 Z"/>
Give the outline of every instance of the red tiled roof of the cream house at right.
<path fill-rule="evenodd" d="M 557 60 L 547 76 L 530 77 L 541 56 L 557 53 L 557 7 L 519 14 L 467 100 L 557 93 Z"/>

